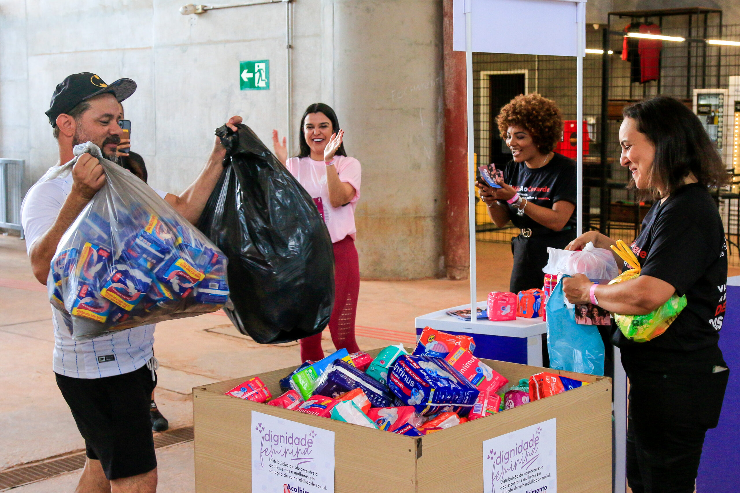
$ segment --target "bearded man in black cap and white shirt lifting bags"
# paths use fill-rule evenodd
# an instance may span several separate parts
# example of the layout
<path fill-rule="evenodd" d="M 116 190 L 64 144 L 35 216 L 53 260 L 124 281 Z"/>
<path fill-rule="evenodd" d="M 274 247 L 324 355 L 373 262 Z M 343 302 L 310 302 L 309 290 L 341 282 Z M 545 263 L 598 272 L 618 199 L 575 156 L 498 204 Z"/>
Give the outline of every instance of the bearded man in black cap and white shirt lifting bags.
<path fill-rule="evenodd" d="M 73 74 L 56 86 L 46 112 L 59 149 L 61 166 L 73 147 L 90 141 L 115 160 L 123 132 L 124 101 L 136 90 L 131 79 L 105 84 L 90 72 Z M 238 116 L 227 125 L 236 130 Z M 179 196 L 157 193 L 190 222 L 197 222 L 221 177 L 226 154 L 216 138 L 198 178 Z M 21 222 L 33 273 L 46 284 L 50 262 L 64 231 L 105 183 L 102 166 L 83 154 L 67 177 L 36 183 L 24 197 Z M 149 419 L 155 385 L 154 325 L 121 330 L 89 341 L 75 341 L 52 307 L 53 370 L 87 449 L 78 492 L 155 492 L 157 460 Z M 61 330 L 60 330 L 61 329 Z"/>

